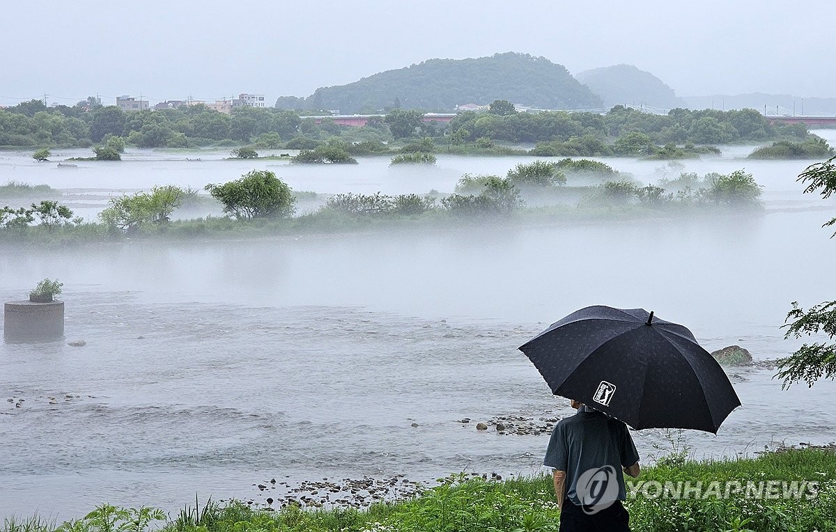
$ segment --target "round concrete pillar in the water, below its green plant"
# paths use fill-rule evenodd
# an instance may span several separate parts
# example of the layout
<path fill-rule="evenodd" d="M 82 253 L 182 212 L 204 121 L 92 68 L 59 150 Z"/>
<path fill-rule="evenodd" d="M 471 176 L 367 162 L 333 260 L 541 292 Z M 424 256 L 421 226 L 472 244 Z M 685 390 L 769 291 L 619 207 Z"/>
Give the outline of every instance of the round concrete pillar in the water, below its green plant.
<path fill-rule="evenodd" d="M 6 301 L 4 309 L 6 342 L 54 342 L 64 337 L 64 301 Z"/>

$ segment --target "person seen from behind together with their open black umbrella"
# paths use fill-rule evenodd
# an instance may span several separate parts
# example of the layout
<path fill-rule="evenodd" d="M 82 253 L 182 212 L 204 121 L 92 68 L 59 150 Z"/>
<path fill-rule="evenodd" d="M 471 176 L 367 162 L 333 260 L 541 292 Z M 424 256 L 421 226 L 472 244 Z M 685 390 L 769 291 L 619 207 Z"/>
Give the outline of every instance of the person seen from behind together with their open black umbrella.
<path fill-rule="evenodd" d="M 579 408 L 555 426 L 544 460 L 555 471 L 564 532 L 630 529 L 617 502 L 625 499 L 623 474 L 640 473 L 627 425 L 716 434 L 740 406 L 726 372 L 691 331 L 642 308 L 582 308 L 520 351 L 554 395 Z"/>

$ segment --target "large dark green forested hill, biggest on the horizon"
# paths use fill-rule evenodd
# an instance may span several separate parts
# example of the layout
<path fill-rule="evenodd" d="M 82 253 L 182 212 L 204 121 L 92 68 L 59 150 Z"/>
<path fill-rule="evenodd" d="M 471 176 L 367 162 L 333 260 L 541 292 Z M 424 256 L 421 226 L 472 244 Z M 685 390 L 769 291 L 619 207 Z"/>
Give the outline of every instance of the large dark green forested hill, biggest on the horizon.
<path fill-rule="evenodd" d="M 317 89 L 308 98 L 282 97 L 279 109 L 339 109 L 380 113 L 400 107 L 451 112 L 458 104 L 504 99 L 540 109 L 592 109 L 601 99 L 563 65 L 523 53 L 486 58 L 429 59 L 347 85 Z"/>

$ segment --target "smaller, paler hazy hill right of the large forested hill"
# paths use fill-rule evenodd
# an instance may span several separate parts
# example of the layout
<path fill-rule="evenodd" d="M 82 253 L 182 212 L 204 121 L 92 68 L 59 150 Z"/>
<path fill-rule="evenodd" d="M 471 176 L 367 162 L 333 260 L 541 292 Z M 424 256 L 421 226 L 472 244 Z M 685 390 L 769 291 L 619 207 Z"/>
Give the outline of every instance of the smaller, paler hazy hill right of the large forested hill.
<path fill-rule="evenodd" d="M 575 74 L 575 78 L 598 94 L 605 107 L 618 104 L 644 104 L 662 109 L 686 107 L 685 100 L 678 98 L 674 89 L 631 64 L 585 70 Z"/>

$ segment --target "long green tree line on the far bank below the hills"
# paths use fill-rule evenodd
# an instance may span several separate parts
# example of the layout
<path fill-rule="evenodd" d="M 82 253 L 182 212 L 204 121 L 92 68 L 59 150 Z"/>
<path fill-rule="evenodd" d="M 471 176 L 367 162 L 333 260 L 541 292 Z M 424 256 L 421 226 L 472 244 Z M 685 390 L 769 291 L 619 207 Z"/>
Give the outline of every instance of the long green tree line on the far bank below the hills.
<path fill-rule="evenodd" d="M 753 109 L 718 111 L 673 109 L 655 115 L 615 106 L 606 114 L 589 112 L 517 113 L 504 100 L 487 112 L 466 111 L 448 124 L 422 121 L 422 112 L 392 109 L 371 117 L 362 128 L 333 119 L 304 118 L 282 109 L 236 108 L 222 114 L 203 105 L 125 112 L 115 106 L 79 102 L 46 107 L 39 100 L 0 109 L 0 145 L 89 147 L 131 144 L 140 148 L 187 148 L 251 144 L 264 148 L 316 149 L 339 138 L 362 144 L 370 155 L 393 139 L 444 137 L 448 147 L 492 146 L 493 142 L 537 143 L 532 155 L 639 155 L 678 158 L 698 155 L 687 144 L 732 144 L 812 139 L 804 124 L 772 124 Z M 118 138 L 118 139 L 117 139 Z M 441 144 L 441 143 L 436 143 Z M 660 153 L 659 145 L 667 144 Z M 686 144 L 677 151 L 675 144 Z M 117 149 L 117 151 L 119 151 Z M 682 153 L 679 153 L 679 152 Z M 670 152 L 670 154 L 668 153 Z M 667 154 L 667 155 L 666 155 Z"/>

